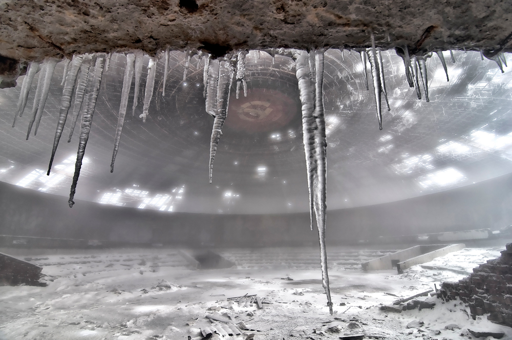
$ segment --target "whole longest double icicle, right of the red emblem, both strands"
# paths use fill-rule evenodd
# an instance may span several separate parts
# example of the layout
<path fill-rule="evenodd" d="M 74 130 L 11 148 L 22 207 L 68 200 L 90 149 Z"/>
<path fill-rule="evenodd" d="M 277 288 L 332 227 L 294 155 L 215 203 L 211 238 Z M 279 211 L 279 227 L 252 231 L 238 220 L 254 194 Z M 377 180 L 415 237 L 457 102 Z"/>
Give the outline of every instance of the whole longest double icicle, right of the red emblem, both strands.
<path fill-rule="evenodd" d="M 327 305 L 332 315 L 325 245 L 327 142 L 323 96 L 324 50 L 314 51 L 313 56 L 314 63 L 311 62 L 311 53 L 292 50 L 292 57 L 296 62 L 295 72 L 302 102 L 302 129 L 308 173 L 310 217 L 312 219 L 314 210 L 320 243 L 322 285 L 327 294 Z M 314 70 L 311 70 L 311 68 L 314 68 Z M 314 81 L 311 78 L 313 74 L 315 75 Z"/>

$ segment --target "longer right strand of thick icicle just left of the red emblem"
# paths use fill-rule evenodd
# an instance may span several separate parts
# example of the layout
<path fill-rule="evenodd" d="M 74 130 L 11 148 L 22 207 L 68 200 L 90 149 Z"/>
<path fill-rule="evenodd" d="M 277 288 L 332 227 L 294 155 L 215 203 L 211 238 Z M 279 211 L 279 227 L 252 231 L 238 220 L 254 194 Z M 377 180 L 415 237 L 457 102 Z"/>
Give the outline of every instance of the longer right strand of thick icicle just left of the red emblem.
<path fill-rule="evenodd" d="M 224 57 L 218 62 L 219 81 L 217 84 L 217 110 L 214 118 L 214 126 L 211 129 L 210 161 L 208 164 L 210 183 L 214 170 L 214 159 L 215 154 L 217 152 L 217 146 L 222 136 L 222 126 L 224 125 L 224 120 L 226 119 L 227 116 L 229 93 L 231 90 L 231 84 L 233 82 L 234 65 L 236 65 L 236 62 L 236 56 L 233 56 L 231 59 L 229 59 L 228 57 Z M 208 82 L 210 82 L 209 79 Z M 209 90 L 210 87 L 208 84 L 208 91 Z M 208 95 L 209 94 L 207 93 L 206 101 L 208 101 Z"/>

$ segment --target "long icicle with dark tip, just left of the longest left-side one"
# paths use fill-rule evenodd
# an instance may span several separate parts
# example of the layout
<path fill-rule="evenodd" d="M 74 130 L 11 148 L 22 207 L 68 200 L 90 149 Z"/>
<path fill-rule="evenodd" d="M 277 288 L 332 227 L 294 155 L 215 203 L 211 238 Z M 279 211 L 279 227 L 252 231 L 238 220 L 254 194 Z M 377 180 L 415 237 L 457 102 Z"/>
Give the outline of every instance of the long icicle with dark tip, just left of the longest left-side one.
<path fill-rule="evenodd" d="M 57 130 L 55 131 L 55 137 L 53 139 L 52 156 L 50 157 L 50 164 L 48 165 L 48 176 L 50 175 L 50 171 L 52 169 L 53 158 L 55 157 L 55 152 L 57 151 L 57 146 L 59 145 L 60 137 L 62 136 L 62 131 L 64 130 L 64 125 L 68 119 L 68 112 L 69 108 L 71 107 L 71 96 L 73 95 L 76 76 L 80 70 L 82 60 L 82 55 L 74 55 L 73 60 L 71 61 L 71 69 L 66 74 L 64 89 L 62 90 L 62 97 L 60 98 L 59 120 L 57 122 Z"/>

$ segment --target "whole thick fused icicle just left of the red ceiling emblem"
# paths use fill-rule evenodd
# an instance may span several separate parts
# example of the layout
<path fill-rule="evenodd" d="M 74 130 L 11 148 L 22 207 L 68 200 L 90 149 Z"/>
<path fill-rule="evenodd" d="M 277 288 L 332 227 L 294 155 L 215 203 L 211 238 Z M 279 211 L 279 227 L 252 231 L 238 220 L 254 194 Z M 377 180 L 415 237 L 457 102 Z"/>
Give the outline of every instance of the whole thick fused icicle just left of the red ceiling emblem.
<path fill-rule="evenodd" d="M 210 160 L 208 163 L 209 181 L 214 171 L 214 159 L 217 152 L 217 146 L 222 136 L 222 126 L 227 116 L 229 93 L 234 76 L 234 66 L 237 57 L 223 57 L 211 61 L 208 67 L 208 84 L 206 92 L 206 112 L 214 116 L 214 126 L 211 129 L 210 137 Z M 211 78 L 210 78 L 211 70 Z M 217 78 L 217 86 L 215 87 L 215 79 Z M 215 93 L 215 90 L 216 93 Z M 212 97 L 216 97 L 214 100 Z"/>

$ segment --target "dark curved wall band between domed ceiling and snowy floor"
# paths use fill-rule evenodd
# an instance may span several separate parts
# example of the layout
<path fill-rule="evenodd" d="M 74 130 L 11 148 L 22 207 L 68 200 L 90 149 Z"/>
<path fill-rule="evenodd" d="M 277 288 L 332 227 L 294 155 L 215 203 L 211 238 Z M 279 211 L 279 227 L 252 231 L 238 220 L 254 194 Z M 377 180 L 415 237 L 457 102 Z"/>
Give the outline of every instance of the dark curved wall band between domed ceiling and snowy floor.
<path fill-rule="evenodd" d="M 498 229 L 512 224 L 512 175 L 447 192 L 374 206 L 331 210 L 327 241 Z M 163 213 L 79 201 L 0 183 L 0 235 L 96 239 L 183 246 L 315 244 L 309 214 L 209 215 Z"/>

